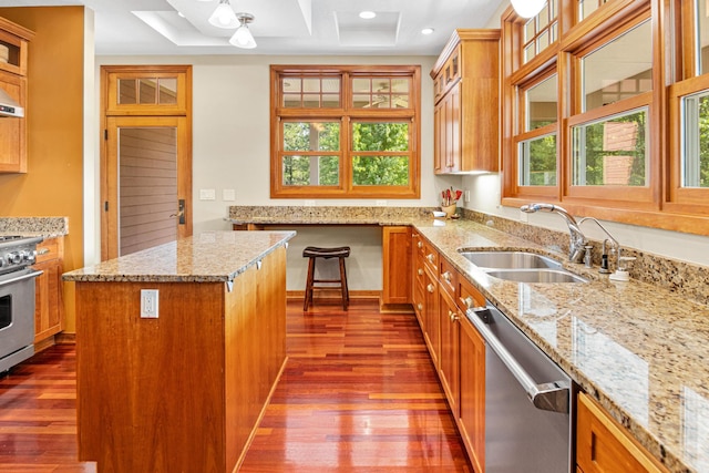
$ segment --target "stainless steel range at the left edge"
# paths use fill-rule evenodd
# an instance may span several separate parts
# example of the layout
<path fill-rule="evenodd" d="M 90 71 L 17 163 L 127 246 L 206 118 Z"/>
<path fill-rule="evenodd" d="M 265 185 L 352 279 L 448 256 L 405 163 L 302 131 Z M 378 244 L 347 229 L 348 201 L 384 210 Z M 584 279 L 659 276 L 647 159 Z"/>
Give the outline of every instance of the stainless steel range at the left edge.
<path fill-rule="evenodd" d="M 0 373 L 34 354 L 37 244 L 42 237 L 0 236 Z"/>

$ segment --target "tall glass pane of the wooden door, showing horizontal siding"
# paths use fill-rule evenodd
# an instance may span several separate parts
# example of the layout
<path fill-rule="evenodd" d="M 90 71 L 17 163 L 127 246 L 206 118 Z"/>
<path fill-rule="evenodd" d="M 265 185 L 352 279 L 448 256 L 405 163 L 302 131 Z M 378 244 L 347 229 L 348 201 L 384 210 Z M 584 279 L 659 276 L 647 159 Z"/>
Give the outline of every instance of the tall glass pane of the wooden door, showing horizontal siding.
<path fill-rule="evenodd" d="M 177 239 L 177 128 L 121 127 L 119 255 Z"/>

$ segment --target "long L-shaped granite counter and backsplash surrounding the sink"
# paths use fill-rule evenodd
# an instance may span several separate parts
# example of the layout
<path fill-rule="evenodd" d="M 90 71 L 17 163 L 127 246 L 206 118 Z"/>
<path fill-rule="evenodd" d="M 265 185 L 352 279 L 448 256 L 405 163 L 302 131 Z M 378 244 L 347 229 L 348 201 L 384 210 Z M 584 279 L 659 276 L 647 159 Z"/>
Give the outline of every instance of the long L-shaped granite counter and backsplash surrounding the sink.
<path fill-rule="evenodd" d="M 265 216 L 242 215 L 235 220 L 302 223 L 296 212 L 288 214 L 282 213 L 281 207 L 269 208 L 264 210 Z M 336 216 L 335 209 L 318 208 L 321 213 L 315 213 L 306 223 L 357 224 L 370 223 L 371 218 L 363 216 L 366 213 L 361 209 L 358 213 L 362 216 L 350 219 L 347 212 Z M 289 219 L 289 215 L 294 218 Z M 512 228 L 514 223 L 501 222 L 503 219 L 493 220 L 493 228 L 475 222 L 477 216 L 441 222 L 431 218 L 430 212 L 384 215 L 387 218 L 380 224 L 410 224 L 431 240 L 492 304 L 599 400 L 671 472 L 709 472 L 709 307 L 701 302 L 706 295 L 692 300 L 665 280 L 675 278 L 664 275 L 668 270 L 662 266 L 666 263 L 648 264 L 655 268 L 647 270 L 648 275 L 646 270 L 633 273 L 633 277 L 649 277 L 651 284 L 638 279 L 614 282 L 597 269 L 588 270 L 583 265 L 565 261 L 564 253 L 549 251 L 549 246 L 561 246 L 564 250 L 566 234 L 522 225 L 525 227 L 522 233 L 528 235 L 520 238 L 512 235 L 520 228 Z M 390 218 L 390 215 L 398 217 Z M 490 219 L 480 217 L 484 223 Z M 458 253 L 460 247 L 526 249 L 549 255 L 589 282 L 503 281 L 473 266 Z M 637 266 L 641 265 L 636 265 L 636 269 Z M 686 278 L 693 281 L 690 286 L 703 286 L 699 292 L 706 292 L 709 268 L 686 266 L 690 267 Z"/>

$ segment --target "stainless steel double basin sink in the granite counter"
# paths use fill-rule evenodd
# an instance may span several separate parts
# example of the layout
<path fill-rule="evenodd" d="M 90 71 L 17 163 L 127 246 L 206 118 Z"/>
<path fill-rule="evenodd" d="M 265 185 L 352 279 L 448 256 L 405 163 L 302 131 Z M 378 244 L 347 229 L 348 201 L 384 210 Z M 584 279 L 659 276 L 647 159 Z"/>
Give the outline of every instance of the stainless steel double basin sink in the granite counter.
<path fill-rule="evenodd" d="M 587 282 L 564 269 L 547 256 L 527 251 L 475 251 L 459 248 L 458 253 L 489 276 L 517 282 Z"/>

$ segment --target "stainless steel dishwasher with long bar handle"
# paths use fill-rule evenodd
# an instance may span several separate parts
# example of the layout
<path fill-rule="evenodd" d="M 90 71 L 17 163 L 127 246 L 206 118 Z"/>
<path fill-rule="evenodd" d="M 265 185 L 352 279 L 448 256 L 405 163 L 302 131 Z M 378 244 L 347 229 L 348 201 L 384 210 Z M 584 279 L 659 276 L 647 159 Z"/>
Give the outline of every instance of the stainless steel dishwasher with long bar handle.
<path fill-rule="evenodd" d="M 569 473 L 574 385 L 492 305 L 467 318 L 485 340 L 485 473 Z"/>

